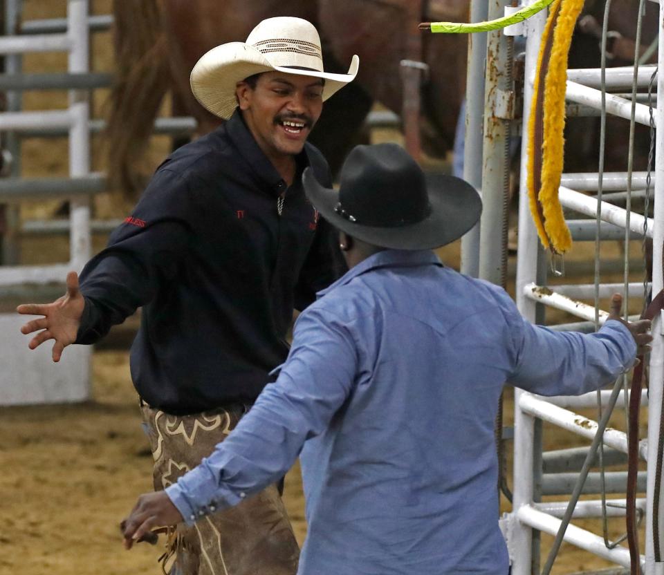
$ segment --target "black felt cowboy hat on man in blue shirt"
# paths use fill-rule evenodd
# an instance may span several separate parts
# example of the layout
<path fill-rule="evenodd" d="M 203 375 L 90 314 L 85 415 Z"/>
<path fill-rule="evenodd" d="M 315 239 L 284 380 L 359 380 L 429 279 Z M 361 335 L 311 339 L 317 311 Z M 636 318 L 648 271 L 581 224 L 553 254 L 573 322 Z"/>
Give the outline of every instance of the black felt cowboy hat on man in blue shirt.
<path fill-rule="evenodd" d="M 454 176 L 426 177 L 397 144 L 357 146 L 344 162 L 340 189 L 311 169 L 302 176 L 313 206 L 359 240 L 394 249 L 432 249 L 460 238 L 479 220 L 477 191 Z"/>

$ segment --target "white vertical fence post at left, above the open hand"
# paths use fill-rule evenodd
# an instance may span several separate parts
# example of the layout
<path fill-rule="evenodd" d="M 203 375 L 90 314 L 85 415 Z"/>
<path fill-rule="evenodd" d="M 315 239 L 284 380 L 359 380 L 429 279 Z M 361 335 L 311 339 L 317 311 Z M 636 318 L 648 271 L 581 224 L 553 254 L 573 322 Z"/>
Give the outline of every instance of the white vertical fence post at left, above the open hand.
<path fill-rule="evenodd" d="M 88 0 L 69 0 L 67 6 L 67 35 L 71 42 L 68 70 L 71 73 L 89 71 Z M 72 178 L 86 176 L 90 171 L 90 115 L 88 93 L 69 92 L 69 111 L 73 125 L 69 131 L 69 174 Z M 70 261 L 79 271 L 91 254 L 90 207 L 86 198 L 71 200 Z"/>

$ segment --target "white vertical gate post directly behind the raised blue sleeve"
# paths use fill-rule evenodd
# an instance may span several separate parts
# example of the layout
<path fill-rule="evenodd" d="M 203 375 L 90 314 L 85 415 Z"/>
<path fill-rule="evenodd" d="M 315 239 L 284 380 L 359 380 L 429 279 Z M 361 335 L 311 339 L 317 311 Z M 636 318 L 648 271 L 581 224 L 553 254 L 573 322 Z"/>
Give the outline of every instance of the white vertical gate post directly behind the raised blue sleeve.
<path fill-rule="evenodd" d="M 530 5 L 534 0 L 526 0 Z M 522 138 L 521 173 L 519 177 L 519 240 L 517 259 L 516 299 L 517 307 L 526 319 L 535 321 L 535 303 L 526 299 L 523 287 L 537 278 L 537 231 L 531 219 L 528 206 L 528 119 L 531 115 L 533 98 L 533 73 L 537 68 L 537 57 L 540 53 L 540 39 L 546 23 L 546 11 L 540 12 L 525 22 L 526 25 L 526 62 L 524 82 L 524 129 Z M 513 509 L 530 505 L 535 497 L 533 478 L 533 451 L 535 449 L 535 420 L 519 408 L 519 397 L 525 392 L 515 389 L 514 398 L 514 482 Z M 513 549 L 513 575 L 531 575 L 533 565 L 533 531 L 530 527 L 516 522 L 513 529 L 510 548 Z"/>

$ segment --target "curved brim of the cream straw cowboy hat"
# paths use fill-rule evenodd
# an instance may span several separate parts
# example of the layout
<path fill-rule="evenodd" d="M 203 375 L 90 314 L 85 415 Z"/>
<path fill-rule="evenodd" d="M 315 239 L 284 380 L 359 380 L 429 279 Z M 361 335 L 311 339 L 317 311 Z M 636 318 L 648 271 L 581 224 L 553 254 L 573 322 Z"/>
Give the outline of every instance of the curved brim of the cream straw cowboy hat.
<path fill-rule="evenodd" d="M 301 76 L 324 78 L 322 98 L 327 100 L 335 92 L 355 79 L 360 59 L 353 56 L 347 74 L 332 74 L 317 70 L 301 70 L 273 66 L 253 46 L 230 42 L 212 48 L 196 63 L 190 77 L 192 92 L 201 105 L 223 120 L 228 120 L 237 108 L 235 88 L 238 82 L 263 72 L 284 72 Z"/>

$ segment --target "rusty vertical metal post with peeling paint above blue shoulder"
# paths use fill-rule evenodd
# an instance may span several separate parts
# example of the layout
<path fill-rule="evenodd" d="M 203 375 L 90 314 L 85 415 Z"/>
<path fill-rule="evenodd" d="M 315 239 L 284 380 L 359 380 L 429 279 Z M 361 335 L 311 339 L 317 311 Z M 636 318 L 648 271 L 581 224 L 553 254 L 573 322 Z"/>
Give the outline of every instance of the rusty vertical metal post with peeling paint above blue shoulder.
<path fill-rule="evenodd" d="M 489 0 L 488 19 L 504 16 L 511 0 Z M 488 32 L 486 100 L 482 154 L 483 214 L 480 222 L 479 277 L 505 285 L 510 119 L 513 118 L 513 37 Z"/>

